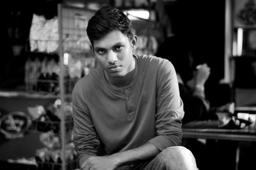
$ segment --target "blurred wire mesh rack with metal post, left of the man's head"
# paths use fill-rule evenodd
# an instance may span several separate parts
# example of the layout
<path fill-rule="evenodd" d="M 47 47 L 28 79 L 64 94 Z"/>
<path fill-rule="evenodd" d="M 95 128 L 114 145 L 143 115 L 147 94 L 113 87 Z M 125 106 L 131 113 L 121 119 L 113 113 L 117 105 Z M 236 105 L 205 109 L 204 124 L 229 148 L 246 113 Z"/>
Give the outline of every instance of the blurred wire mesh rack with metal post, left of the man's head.
<path fill-rule="evenodd" d="M 58 4 L 58 20 L 59 20 L 59 56 L 60 56 L 60 99 L 61 99 L 61 169 L 67 169 L 66 162 L 66 129 L 65 129 L 65 102 L 70 101 L 70 94 L 65 88 L 65 74 L 72 64 L 81 64 L 81 78 L 87 74 L 90 69 L 95 67 L 95 60 L 90 51 L 90 41 L 86 34 L 88 20 L 95 11 Z"/>

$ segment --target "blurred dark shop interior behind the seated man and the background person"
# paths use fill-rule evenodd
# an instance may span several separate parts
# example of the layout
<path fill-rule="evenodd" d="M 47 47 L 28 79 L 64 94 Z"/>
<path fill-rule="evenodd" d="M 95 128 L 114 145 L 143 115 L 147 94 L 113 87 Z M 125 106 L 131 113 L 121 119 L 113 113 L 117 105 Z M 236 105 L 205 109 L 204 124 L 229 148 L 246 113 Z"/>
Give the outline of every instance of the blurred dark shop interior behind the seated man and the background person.
<path fill-rule="evenodd" d="M 230 148 L 215 145 L 205 157 L 220 169 L 255 167 L 248 155 L 256 140 L 256 0 L 9 0 L 0 27 L 1 169 L 78 168 L 70 92 L 97 67 L 86 25 L 104 4 L 131 19 L 138 55 L 154 55 L 173 34 L 191 45 L 196 62 L 211 67 L 205 96 L 216 107 L 234 103 L 231 117 L 241 113 L 238 130 L 246 135 L 234 134 L 224 140 Z"/>

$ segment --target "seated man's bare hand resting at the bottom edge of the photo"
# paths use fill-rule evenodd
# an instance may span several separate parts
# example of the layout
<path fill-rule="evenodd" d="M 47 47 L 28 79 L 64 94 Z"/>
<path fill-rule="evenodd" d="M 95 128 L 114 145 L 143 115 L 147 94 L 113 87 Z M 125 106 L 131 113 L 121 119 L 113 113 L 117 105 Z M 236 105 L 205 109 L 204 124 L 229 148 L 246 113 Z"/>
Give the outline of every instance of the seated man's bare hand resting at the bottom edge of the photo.
<path fill-rule="evenodd" d="M 113 170 L 118 167 L 118 159 L 111 156 L 90 157 L 81 166 L 82 170 Z"/>

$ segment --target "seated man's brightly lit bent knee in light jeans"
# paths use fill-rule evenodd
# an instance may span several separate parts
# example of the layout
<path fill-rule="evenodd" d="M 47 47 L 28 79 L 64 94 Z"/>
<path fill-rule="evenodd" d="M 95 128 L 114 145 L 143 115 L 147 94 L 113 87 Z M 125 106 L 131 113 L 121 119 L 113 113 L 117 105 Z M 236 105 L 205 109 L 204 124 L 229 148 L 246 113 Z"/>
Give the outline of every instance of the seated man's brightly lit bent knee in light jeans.
<path fill-rule="evenodd" d="M 184 146 L 166 148 L 157 157 L 173 169 L 197 169 L 193 153 Z"/>

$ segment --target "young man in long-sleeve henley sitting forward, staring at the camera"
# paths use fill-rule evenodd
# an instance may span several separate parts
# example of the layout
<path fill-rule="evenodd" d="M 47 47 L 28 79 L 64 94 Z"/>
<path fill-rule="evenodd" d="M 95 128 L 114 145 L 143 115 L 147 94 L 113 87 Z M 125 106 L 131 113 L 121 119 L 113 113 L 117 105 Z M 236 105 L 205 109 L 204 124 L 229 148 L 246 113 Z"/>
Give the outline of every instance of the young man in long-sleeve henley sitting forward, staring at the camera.
<path fill-rule="evenodd" d="M 112 6 L 100 8 L 86 31 L 100 67 L 73 90 L 81 169 L 197 169 L 180 146 L 184 111 L 173 65 L 134 55 L 131 22 Z"/>

